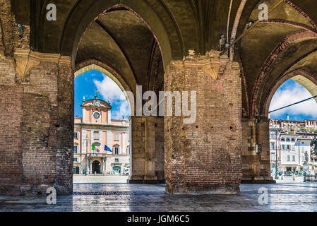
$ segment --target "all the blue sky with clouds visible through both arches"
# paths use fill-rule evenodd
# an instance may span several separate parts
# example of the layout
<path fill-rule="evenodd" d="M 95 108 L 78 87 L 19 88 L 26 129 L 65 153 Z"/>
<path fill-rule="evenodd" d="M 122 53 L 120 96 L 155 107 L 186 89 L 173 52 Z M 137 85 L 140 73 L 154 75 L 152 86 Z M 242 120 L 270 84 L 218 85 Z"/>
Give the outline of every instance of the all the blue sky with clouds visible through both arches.
<path fill-rule="evenodd" d="M 112 119 L 128 119 L 128 102 L 124 94 L 111 78 L 100 71 L 88 71 L 75 78 L 75 116 L 81 117 L 83 97 L 89 100 L 97 96 L 102 100 L 110 100 L 112 105 Z M 278 109 L 294 102 L 311 97 L 311 94 L 299 83 L 288 80 L 276 91 L 270 103 L 270 110 Z M 289 114 L 291 120 L 317 119 L 317 103 L 315 100 L 303 102 L 271 114 L 271 119 L 286 119 Z"/>

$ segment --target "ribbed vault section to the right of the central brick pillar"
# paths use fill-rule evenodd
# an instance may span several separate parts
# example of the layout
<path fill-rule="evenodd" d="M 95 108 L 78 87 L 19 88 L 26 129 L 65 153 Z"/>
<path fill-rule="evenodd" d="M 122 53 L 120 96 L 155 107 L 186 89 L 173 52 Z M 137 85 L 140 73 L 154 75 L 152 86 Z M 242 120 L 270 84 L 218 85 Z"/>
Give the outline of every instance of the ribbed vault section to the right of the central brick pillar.
<path fill-rule="evenodd" d="M 258 20 L 259 4 L 266 3 L 270 9 L 279 2 L 254 4 L 249 19 L 242 24 L 244 31 L 247 23 Z M 317 1 L 285 0 L 269 14 L 268 21 L 256 25 L 237 44 L 234 57 L 243 66 L 243 101 L 249 115 L 257 109 L 260 114 L 268 111 L 267 102 L 278 88 L 276 84 L 288 73 L 302 70 L 305 73 L 299 72 L 301 76 L 317 75 L 317 18 L 311 11 L 315 7 Z M 309 81 L 299 82 L 304 86 L 309 84 Z"/>

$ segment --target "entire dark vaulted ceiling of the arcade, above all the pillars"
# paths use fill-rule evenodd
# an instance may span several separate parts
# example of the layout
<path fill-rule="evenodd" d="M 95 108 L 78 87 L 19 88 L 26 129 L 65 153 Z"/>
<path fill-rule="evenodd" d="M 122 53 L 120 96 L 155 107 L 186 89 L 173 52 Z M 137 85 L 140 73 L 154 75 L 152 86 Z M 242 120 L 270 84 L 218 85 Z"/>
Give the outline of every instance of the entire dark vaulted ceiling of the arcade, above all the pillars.
<path fill-rule="evenodd" d="M 56 0 L 56 21 L 45 19 L 50 1 L 12 2 L 17 23 L 31 25 L 32 49 L 71 56 L 75 64 L 95 59 L 131 87 L 162 90 L 170 61 L 189 49 L 219 50 L 220 34 L 237 39 L 258 20 L 259 4 L 270 9 L 280 0 Z M 316 0 L 284 0 L 235 44 L 231 57 L 241 64 L 249 117 L 265 112 L 287 74 L 302 71 L 317 81 L 316 8 Z"/>

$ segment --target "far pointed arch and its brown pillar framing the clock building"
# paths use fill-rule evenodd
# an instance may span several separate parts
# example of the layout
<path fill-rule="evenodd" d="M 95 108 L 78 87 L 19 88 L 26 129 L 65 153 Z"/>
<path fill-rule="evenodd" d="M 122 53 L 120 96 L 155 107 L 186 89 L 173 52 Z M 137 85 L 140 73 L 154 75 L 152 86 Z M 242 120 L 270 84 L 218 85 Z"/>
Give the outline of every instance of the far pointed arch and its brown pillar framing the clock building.
<path fill-rule="evenodd" d="M 136 112 L 136 105 L 134 105 L 136 101 L 131 99 L 132 89 L 123 76 L 107 64 L 95 59 L 83 61 L 76 65 L 74 78 L 90 70 L 100 71 L 111 78 L 124 93 L 130 114 L 132 107 L 134 108 L 133 112 Z M 134 83 L 136 82 L 134 81 Z M 135 99 L 135 93 L 132 95 Z M 131 145 L 128 148 L 131 172 L 128 182 L 144 184 L 165 183 L 164 117 L 136 117 L 133 115 L 129 121 Z M 148 168 L 145 165 L 150 165 L 151 167 Z"/>

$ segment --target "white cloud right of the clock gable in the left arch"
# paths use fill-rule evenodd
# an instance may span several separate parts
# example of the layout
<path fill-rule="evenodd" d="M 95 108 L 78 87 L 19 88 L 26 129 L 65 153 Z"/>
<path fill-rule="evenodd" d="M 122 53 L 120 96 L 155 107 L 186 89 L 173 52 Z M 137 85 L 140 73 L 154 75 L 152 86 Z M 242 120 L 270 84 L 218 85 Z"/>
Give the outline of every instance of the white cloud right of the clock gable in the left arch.
<path fill-rule="evenodd" d="M 112 109 L 112 119 L 122 119 L 122 115 L 125 119 L 128 119 L 128 102 L 119 86 L 107 76 L 104 76 L 103 81 L 94 80 L 93 82 L 97 87 L 97 92 L 102 95 L 102 99 L 110 100 L 112 107 L 114 107 Z"/>

